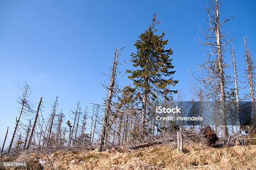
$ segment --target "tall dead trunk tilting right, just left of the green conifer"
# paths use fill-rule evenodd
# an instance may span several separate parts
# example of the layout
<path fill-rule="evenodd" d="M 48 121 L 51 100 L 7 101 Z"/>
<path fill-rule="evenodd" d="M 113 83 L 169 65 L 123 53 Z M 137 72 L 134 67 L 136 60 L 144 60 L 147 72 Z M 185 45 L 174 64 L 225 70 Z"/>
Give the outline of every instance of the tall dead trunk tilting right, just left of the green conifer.
<path fill-rule="evenodd" d="M 100 134 L 100 143 L 99 143 L 99 148 L 98 152 L 102 151 L 102 147 L 104 145 L 104 140 L 106 137 L 106 128 L 107 128 L 107 123 L 108 123 L 108 116 L 110 115 L 110 105 L 111 105 L 111 99 L 113 95 L 113 87 L 115 85 L 115 73 L 116 73 L 116 67 L 118 65 L 118 48 L 115 49 L 115 56 L 113 60 L 113 66 L 112 66 L 112 72 L 111 72 L 111 78 L 110 78 L 110 83 L 108 87 L 108 98 L 105 102 L 105 116 L 103 118 L 103 123 L 102 123 L 102 132 Z"/>

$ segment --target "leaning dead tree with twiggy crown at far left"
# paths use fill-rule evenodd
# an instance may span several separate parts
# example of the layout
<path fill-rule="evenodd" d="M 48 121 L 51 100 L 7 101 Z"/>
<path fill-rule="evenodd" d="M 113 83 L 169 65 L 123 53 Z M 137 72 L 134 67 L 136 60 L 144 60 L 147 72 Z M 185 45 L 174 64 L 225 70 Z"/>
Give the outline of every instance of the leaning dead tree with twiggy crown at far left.
<path fill-rule="evenodd" d="M 9 145 L 7 153 L 10 153 L 10 150 L 12 148 L 13 140 L 14 140 L 14 137 L 15 137 L 15 134 L 16 134 L 19 122 L 20 122 L 21 115 L 23 115 L 23 113 L 25 111 L 31 111 L 31 105 L 30 105 L 29 101 L 27 100 L 27 98 L 31 94 L 29 86 L 28 85 L 24 86 L 24 90 L 23 91 L 24 91 L 23 92 L 23 97 L 19 98 L 19 101 L 18 101 L 20 103 L 20 105 L 21 105 L 20 114 L 19 114 L 18 119 L 16 117 L 16 125 L 14 127 L 13 136 L 12 136 L 12 138 L 10 140 L 10 145 Z"/>

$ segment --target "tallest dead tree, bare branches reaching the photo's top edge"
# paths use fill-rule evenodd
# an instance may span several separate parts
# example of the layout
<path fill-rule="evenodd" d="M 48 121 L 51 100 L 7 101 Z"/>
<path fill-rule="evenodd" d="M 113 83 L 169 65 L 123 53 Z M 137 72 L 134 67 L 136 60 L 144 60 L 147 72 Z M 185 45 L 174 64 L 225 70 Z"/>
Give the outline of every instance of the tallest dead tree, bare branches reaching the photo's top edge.
<path fill-rule="evenodd" d="M 209 47 L 209 54 L 202 65 L 200 65 L 201 75 L 195 77 L 202 85 L 207 98 L 220 101 L 220 115 L 221 115 L 221 129 L 222 136 L 228 136 L 228 128 L 225 114 L 225 63 L 224 63 L 224 49 L 227 41 L 224 39 L 225 35 L 221 32 L 221 27 L 228 22 L 226 18 L 220 22 L 219 4 L 218 0 L 210 2 L 210 7 L 207 6 L 208 19 L 210 28 L 206 33 L 203 33 L 205 41 L 200 40 L 200 44 Z"/>

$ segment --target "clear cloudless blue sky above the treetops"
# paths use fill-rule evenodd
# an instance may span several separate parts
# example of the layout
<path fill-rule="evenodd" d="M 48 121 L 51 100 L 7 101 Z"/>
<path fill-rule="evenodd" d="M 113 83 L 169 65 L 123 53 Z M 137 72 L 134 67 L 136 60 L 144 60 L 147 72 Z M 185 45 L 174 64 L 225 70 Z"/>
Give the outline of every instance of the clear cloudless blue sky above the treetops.
<path fill-rule="evenodd" d="M 118 77 L 129 84 L 125 69 L 131 68 L 134 42 L 149 23 L 154 12 L 161 20 L 169 46 L 173 47 L 175 89 L 182 88 L 190 97 L 188 69 L 204 59 L 202 46 L 195 38 L 201 35 L 198 25 L 207 28 L 205 4 L 208 1 L 150 0 L 1 0 L 0 1 L 0 145 L 7 126 L 13 132 L 18 113 L 16 99 L 25 81 L 33 90 L 31 102 L 43 97 L 44 115 L 52 100 L 59 96 L 59 110 L 64 113 L 81 100 L 102 103 L 106 90 L 101 82 L 108 78 L 114 50 L 125 47 L 120 60 L 126 65 Z M 243 67 L 243 36 L 255 54 L 256 1 L 223 0 L 222 18 L 235 16 L 225 30 L 234 37 L 236 58 Z M 254 55 L 255 56 L 255 55 Z M 227 56 L 229 57 L 229 56 Z M 68 117 L 68 116 L 67 116 Z M 10 137 L 10 134 L 8 135 Z M 7 143 L 8 145 L 9 143 Z"/>

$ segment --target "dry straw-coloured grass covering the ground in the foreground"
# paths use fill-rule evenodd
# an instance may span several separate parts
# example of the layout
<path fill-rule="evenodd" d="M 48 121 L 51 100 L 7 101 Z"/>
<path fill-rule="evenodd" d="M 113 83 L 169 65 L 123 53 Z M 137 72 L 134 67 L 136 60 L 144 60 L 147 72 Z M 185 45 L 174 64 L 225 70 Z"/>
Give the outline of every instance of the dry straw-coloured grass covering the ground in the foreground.
<path fill-rule="evenodd" d="M 63 152 L 41 155 L 46 161 L 45 170 L 52 166 L 58 170 L 255 170 L 256 146 L 206 148 L 194 146 L 184 148 L 185 153 L 168 146 L 153 146 L 119 153 L 108 150 L 102 153 Z M 40 154 L 39 154 L 40 155 Z M 27 158 L 20 155 L 19 159 Z M 30 159 L 38 154 L 30 155 Z M 23 158 L 22 158 L 23 157 Z M 31 160 L 30 160 L 31 161 Z M 51 164 L 52 163 L 52 164 Z"/>

